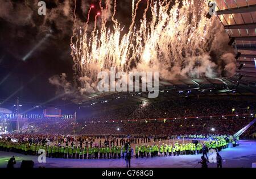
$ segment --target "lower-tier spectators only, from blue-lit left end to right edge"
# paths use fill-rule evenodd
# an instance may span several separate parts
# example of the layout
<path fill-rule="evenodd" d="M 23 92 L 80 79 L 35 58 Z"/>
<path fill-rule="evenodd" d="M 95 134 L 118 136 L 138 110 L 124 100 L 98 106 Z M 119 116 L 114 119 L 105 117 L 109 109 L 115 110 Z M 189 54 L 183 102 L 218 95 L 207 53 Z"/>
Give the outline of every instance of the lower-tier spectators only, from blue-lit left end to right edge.
<path fill-rule="evenodd" d="M 59 119 L 60 120 L 60 119 Z M 138 122 L 84 122 L 45 120 L 34 121 L 32 130 L 23 128 L 22 132 L 40 134 L 84 134 L 84 135 L 186 135 L 218 134 L 234 135 L 253 120 L 251 116 L 210 118 L 210 119 L 176 119 L 176 120 L 139 120 Z M 252 136 L 256 132 L 255 124 L 243 134 Z"/>

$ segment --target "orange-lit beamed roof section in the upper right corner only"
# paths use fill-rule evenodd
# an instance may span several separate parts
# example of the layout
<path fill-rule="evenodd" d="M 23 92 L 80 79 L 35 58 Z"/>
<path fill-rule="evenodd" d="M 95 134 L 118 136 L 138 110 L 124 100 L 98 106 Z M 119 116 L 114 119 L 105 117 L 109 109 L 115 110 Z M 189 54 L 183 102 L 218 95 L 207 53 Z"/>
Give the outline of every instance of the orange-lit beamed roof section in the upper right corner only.
<path fill-rule="evenodd" d="M 256 0 L 216 0 L 217 15 L 234 39 L 234 48 L 241 55 L 237 60 L 237 74 L 231 80 L 255 86 L 256 84 Z M 241 64 L 242 69 L 238 69 Z"/>

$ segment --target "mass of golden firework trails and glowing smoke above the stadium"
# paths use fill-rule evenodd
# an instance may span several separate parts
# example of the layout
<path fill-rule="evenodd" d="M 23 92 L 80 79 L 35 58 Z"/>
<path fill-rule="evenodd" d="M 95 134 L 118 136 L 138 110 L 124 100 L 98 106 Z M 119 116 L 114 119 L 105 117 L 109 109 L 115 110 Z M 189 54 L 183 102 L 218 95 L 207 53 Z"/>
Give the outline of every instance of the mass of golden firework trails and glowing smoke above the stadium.
<path fill-rule="evenodd" d="M 158 71 L 163 80 L 220 77 L 224 70 L 227 76 L 232 76 L 236 68 L 234 52 L 231 47 L 223 45 L 223 35 L 219 35 L 222 28 L 216 17 L 205 17 L 209 9 L 206 1 L 147 0 L 141 23 L 135 24 L 135 19 L 139 18 L 137 10 L 141 1 L 131 2 L 131 24 L 125 34 L 121 33 L 122 24 L 114 19 L 116 0 L 110 16 L 112 26 L 106 28 L 108 18 L 104 15 L 106 10 L 111 9 L 110 0 L 105 1 L 105 9 L 100 1 L 101 13 L 95 16 L 90 35 L 86 30 L 92 7 L 88 12 L 85 30 L 80 28 L 80 33 L 76 34 L 74 24 L 71 55 L 75 64 L 73 69 L 77 88 L 81 93 L 96 89 L 98 72 L 108 71 L 112 66 L 124 72 Z M 97 27 L 99 15 L 101 24 Z M 150 18 L 147 19 L 147 15 Z M 218 36 L 222 40 L 217 39 Z M 73 38 L 79 43 L 74 44 Z M 210 56 L 212 52 L 214 56 Z M 225 65 L 221 66 L 223 63 Z"/>

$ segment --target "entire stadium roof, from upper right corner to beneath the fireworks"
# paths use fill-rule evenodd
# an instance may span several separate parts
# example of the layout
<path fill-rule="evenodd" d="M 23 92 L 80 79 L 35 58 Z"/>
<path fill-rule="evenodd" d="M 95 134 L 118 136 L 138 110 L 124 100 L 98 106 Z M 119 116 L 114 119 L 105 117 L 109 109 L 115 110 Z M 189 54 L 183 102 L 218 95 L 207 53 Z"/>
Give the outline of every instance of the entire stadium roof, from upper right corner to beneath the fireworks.
<path fill-rule="evenodd" d="M 256 94 L 256 0 L 215 0 L 217 16 L 234 40 L 234 48 L 241 55 L 237 59 L 236 75 L 231 78 L 201 78 L 160 81 L 159 98 L 198 95 L 255 95 Z M 244 64 L 241 69 L 239 67 Z M 189 92 L 188 92 L 189 91 Z M 147 93 L 93 93 L 73 99 L 77 104 L 88 104 L 128 98 L 131 102 L 152 100 Z"/>

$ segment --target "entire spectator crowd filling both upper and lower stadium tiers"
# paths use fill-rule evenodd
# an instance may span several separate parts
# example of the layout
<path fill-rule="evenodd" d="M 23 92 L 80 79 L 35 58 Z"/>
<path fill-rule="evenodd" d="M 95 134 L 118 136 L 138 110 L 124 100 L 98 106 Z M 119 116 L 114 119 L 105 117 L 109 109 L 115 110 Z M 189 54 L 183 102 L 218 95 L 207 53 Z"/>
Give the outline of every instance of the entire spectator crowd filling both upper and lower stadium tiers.
<path fill-rule="evenodd" d="M 255 101 L 245 99 L 180 98 L 127 105 L 117 109 L 109 107 L 97 110 L 97 113 L 82 119 L 29 119 L 22 132 L 90 135 L 233 135 L 254 119 L 255 106 Z M 255 124 L 243 135 L 249 137 L 254 133 Z"/>

